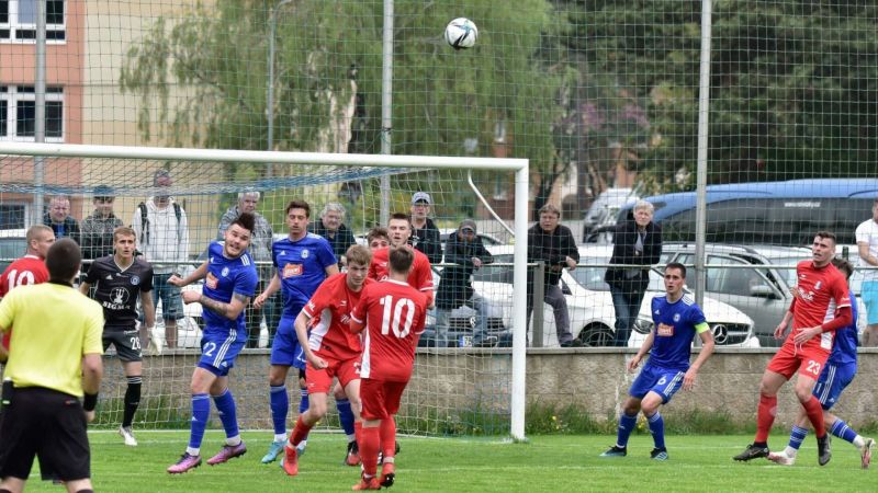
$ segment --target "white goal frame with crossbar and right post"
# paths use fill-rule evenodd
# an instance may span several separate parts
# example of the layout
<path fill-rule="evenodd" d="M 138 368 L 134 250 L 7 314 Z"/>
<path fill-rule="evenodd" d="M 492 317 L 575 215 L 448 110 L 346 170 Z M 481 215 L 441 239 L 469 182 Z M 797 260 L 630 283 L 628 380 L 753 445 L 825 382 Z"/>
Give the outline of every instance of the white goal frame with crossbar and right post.
<path fill-rule="evenodd" d="M 263 164 L 309 164 L 383 168 L 469 169 L 515 171 L 515 256 L 513 290 L 513 362 L 510 427 L 513 439 L 525 439 L 526 351 L 527 351 L 527 229 L 529 161 L 508 158 L 436 156 L 342 154 L 322 152 L 247 151 L 72 144 L 0 142 L 0 157 L 109 158 L 177 161 L 252 162 Z M 40 184 L 36 184 L 40 185 Z"/>

